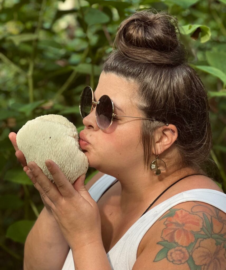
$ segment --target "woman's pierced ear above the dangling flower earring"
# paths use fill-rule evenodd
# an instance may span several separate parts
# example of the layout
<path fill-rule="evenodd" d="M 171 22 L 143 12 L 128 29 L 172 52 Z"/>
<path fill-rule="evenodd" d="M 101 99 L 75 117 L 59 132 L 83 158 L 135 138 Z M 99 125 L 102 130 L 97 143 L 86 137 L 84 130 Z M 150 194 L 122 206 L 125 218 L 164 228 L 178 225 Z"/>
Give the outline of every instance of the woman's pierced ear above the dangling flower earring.
<path fill-rule="evenodd" d="M 152 142 L 152 153 L 160 155 L 174 143 L 177 136 L 177 128 L 172 124 L 156 129 L 154 131 L 154 141 Z"/>

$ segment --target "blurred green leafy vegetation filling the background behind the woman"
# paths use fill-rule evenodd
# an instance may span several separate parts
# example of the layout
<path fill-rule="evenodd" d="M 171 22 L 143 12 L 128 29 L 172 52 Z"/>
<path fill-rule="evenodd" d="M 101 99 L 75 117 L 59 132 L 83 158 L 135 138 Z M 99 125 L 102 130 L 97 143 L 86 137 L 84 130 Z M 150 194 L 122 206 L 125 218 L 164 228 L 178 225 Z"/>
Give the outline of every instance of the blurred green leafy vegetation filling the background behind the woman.
<path fill-rule="evenodd" d="M 226 191 L 226 0 L 0 0 L 0 265 L 22 269 L 24 242 L 43 208 L 8 134 L 44 114 L 61 114 L 80 132 L 83 88 L 98 84 L 117 27 L 139 9 L 178 18 L 188 62 L 209 96 L 213 149 Z M 87 181 L 97 171 L 89 168 Z"/>

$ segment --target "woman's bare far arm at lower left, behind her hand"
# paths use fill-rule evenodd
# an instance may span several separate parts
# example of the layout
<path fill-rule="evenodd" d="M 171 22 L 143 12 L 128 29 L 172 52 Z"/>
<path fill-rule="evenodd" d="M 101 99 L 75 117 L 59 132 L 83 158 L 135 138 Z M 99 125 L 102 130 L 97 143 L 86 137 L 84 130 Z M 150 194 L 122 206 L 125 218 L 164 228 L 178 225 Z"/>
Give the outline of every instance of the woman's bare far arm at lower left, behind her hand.
<path fill-rule="evenodd" d="M 24 270 L 61 270 L 69 249 L 57 221 L 44 207 L 26 238 Z"/>

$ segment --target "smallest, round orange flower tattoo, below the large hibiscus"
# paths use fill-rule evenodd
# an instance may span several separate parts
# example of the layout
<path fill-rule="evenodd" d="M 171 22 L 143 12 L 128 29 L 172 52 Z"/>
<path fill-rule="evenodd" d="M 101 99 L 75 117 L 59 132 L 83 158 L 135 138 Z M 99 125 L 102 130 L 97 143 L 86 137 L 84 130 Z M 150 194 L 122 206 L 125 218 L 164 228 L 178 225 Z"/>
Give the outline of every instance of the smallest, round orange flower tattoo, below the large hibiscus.
<path fill-rule="evenodd" d="M 167 252 L 167 259 L 173 264 L 184 264 L 189 256 L 187 249 L 183 247 L 172 248 Z"/>

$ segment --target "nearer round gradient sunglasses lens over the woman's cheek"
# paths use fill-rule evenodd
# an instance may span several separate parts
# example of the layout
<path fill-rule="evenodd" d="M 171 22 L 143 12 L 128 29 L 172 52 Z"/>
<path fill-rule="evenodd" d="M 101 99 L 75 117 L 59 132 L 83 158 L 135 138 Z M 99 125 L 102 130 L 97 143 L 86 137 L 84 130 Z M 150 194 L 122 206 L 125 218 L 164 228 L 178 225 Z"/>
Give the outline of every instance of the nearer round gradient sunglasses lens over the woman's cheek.
<path fill-rule="evenodd" d="M 96 117 L 98 126 L 101 129 L 107 129 L 112 121 L 113 106 L 109 96 L 104 95 L 99 99 L 96 108 Z"/>

